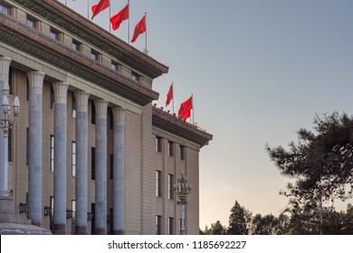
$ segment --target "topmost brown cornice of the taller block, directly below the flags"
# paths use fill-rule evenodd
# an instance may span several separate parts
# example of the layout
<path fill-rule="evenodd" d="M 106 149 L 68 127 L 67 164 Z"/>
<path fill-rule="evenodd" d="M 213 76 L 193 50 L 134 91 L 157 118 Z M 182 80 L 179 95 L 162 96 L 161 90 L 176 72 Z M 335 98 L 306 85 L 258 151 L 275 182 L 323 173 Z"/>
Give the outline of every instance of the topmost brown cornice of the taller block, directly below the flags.
<path fill-rule="evenodd" d="M 90 42 L 102 51 L 113 55 L 119 61 L 126 63 L 151 79 L 155 79 L 168 71 L 167 66 L 149 57 L 146 53 L 138 51 L 127 42 L 120 40 L 58 1 L 13 1 L 42 16 L 44 19 L 57 24 L 62 29 L 75 34 L 83 41 Z"/>

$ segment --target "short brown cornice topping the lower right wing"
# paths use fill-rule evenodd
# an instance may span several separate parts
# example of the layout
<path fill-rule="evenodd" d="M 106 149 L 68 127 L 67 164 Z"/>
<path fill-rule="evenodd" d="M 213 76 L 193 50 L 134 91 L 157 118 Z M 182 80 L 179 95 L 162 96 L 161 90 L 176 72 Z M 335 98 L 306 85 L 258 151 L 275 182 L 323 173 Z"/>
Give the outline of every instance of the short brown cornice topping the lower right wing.
<path fill-rule="evenodd" d="M 197 126 L 180 120 L 159 108 L 152 108 L 152 126 L 167 130 L 167 132 L 176 136 L 184 137 L 200 146 L 208 145 L 208 142 L 213 138 L 211 134 L 200 130 Z"/>

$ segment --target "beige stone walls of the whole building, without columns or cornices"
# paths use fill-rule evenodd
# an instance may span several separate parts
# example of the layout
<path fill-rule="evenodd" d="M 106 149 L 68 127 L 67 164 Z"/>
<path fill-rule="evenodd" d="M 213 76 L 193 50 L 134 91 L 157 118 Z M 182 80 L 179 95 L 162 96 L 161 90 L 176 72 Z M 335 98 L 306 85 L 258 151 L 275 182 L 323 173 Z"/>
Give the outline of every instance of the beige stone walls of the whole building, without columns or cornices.
<path fill-rule="evenodd" d="M 26 22 L 28 10 L 17 5 L 14 1 L 1 1 L 0 4 L 12 5 L 11 14 L 18 21 Z M 72 40 L 80 40 L 76 34 L 67 33 L 54 23 L 47 23 L 46 20 L 35 14 L 31 16 L 38 19 L 37 29 L 47 35 L 50 34 L 51 27 L 61 32 L 60 40 L 71 47 Z M 100 52 L 101 62 L 110 68 L 113 59 L 108 53 L 101 52 L 99 48 L 90 43 L 81 44 L 81 52 L 90 56 L 91 49 Z M 94 212 L 91 204 L 95 202 L 95 181 L 91 179 L 91 147 L 95 147 L 95 125 L 91 123 L 92 104 L 96 98 L 103 98 L 109 101 L 109 107 L 126 108 L 125 116 L 125 233 L 126 234 L 155 234 L 156 216 L 161 216 L 161 233 L 168 233 L 168 218 L 174 219 L 173 234 L 179 233 L 180 207 L 176 205 L 177 197 L 170 200 L 167 196 L 168 174 L 174 175 L 176 182 L 181 173 L 185 173 L 189 182 L 193 185 L 193 190 L 189 195 L 189 207 L 187 209 L 187 233 L 198 233 L 198 154 L 200 146 L 187 141 L 179 136 L 171 135 L 163 129 L 152 126 L 152 104 L 140 106 L 136 102 L 129 100 L 117 93 L 104 89 L 91 80 L 83 79 L 73 72 L 62 70 L 48 62 L 33 57 L 28 53 L 6 44 L 0 39 L 0 55 L 12 59 L 11 80 L 12 95 L 18 96 L 21 102 L 21 113 L 17 123 L 14 125 L 13 137 L 11 141 L 12 159 L 9 162 L 8 187 L 14 196 L 14 210 L 19 214 L 21 202 L 28 203 L 28 161 L 27 161 L 27 128 L 29 125 L 29 102 L 27 100 L 28 81 L 26 72 L 29 70 L 40 70 L 45 73 L 43 81 L 43 154 L 42 154 L 42 204 L 43 209 L 51 206 L 53 196 L 53 172 L 51 170 L 51 136 L 53 136 L 54 108 L 52 103 L 52 81 L 66 81 L 69 84 L 67 93 L 67 143 L 66 143 L 66 177 L 67 192 L 66 206 L 72 210 L 72 201 L 75 200 L 75 175 L 72 175 L 72 141 L 75 141 L 76 121 L 72 116 L 73 92 L 75 90 L 86 90 L 90 95 L 88 104 L 88 201 L 87 211 Z M 131 73 L 138 73 L 138 83 L 152 89 L 152 79 L 142 76 L 140 71 L 135 70 L 124 62 L 118 61 L 121 74 L 130 78 Z M 111 178 L 110 159 L 113 154 L 112 139 L 113 131 L 110 128 L 110 109 L 108 110 L 107 121 L 107 231 L 111 233 L 113 208 L 113 179 Z M 162 152 L 156 152 L 155 139 L 161 136 L 163 140 Z M 167 141 L 174 142 L 174 155 L 167 154 Z M 178 146 L 185 146 L 185 159 L 178 158 Z M 162 196 L 156 196 L 156 171 L 162 172 Z M 31 203 L 28 203 L 31 204 Z M 25 215 L 25 214 L 22 214 Z M 51 216 L 44 216 L 42 210 L 42 226 L 51 229 Z M 88 221 L 88 233 L 93 233 L 93 220 Z M 74 218 L 66 222 L 68 234 L 74 233 Z"/>

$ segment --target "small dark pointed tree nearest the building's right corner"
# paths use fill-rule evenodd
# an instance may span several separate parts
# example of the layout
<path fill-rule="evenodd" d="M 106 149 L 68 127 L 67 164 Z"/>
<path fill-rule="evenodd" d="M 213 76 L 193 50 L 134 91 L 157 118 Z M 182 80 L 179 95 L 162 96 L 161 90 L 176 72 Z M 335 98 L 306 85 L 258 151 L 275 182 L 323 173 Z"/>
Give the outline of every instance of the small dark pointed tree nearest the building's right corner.
<path fill-rule="evenodd" d="M 251 217 L 251 212 L 245 210 L 238 201 L 235 201 L 234 207 L 231 209 L 231 214 L 229 216 L 229 228 L 227 233 L 229 235 L 248 235 L 248 224 L 250 224 Z"/>

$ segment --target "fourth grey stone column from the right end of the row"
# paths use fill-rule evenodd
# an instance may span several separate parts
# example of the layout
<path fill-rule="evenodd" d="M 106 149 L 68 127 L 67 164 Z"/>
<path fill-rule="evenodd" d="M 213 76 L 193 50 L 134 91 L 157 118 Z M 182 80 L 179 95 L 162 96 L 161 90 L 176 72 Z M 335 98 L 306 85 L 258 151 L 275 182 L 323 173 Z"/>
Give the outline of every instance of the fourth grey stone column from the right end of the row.
<path fill-rule="evenodd" d="M 53 82 L 54 91 L 54 215 L 52 233 L 66 234 L 66 140 L 67 89 L 66 82 Z"/>

